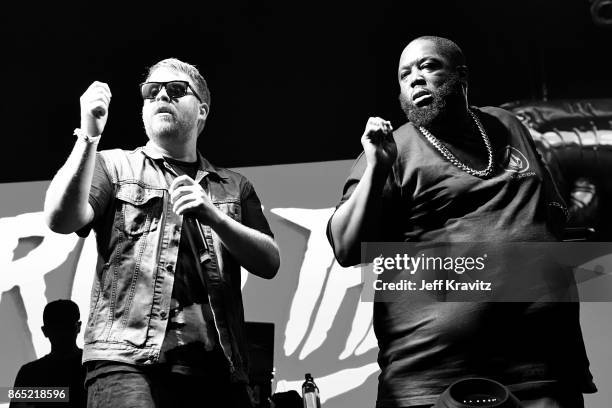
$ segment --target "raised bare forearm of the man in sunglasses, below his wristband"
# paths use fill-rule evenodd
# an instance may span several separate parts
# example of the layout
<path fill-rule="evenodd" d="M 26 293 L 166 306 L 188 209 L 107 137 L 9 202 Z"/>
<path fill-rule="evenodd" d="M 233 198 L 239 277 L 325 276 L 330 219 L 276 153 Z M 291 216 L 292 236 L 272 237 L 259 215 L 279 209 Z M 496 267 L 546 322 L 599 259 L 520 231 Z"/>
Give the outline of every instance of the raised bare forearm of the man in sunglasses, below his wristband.
<path fill-rule="evenodd" d="M 51 230 L 68 234 L 93 218 L 88 204 L 97 143 L 77 139 L 66 163 L 59 169 L 45 197 L 44 214 Z"/>

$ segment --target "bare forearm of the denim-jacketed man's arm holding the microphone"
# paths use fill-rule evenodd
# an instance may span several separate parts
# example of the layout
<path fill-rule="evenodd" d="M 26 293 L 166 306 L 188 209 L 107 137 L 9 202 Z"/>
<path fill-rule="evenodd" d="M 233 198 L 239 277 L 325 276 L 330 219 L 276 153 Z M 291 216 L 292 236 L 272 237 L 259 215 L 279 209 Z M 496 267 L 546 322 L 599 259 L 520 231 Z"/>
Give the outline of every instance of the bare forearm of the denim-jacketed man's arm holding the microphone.
<path fill-rule="evenodd" d="M 249 272 L 265 279 L 276 275 L 280 256 L 276 243 L 266 234 L 249 228 L 220 213 L 213 230 L 222 244 Z"/>

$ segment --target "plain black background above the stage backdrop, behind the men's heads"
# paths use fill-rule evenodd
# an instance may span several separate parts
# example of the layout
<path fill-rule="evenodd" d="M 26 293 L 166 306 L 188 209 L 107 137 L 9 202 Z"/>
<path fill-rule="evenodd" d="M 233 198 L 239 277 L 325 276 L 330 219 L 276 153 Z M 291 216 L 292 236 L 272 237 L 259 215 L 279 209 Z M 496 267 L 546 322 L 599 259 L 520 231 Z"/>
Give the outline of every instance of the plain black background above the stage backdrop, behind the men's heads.
<path fill-rule="evenodd" d="M 137 85 L 167 57 L 208 80 L 200 149 L 227 167 L 354 158 L 369 116 L 404 122 L 397 62 L 419 35 L 463 48 L 475 105 L 612 96 L 612 29 L 588 0 L 123 3 L 3 11 L 0 182 L 53 176 L 93 80 L 113 93 L 100 148 L 144 144 Z"/>

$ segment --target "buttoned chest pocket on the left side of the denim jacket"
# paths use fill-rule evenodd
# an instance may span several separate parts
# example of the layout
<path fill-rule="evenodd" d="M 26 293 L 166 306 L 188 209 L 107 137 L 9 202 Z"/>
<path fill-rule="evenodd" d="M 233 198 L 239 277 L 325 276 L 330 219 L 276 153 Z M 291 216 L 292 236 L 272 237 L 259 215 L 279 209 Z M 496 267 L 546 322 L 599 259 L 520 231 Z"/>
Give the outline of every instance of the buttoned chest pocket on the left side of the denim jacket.
<path fill-rule="evenodd" d="M 164 190 L 124 183 L 117 187 L 115 227 L 129 238 L 157 228 L 163 211 Z"/>

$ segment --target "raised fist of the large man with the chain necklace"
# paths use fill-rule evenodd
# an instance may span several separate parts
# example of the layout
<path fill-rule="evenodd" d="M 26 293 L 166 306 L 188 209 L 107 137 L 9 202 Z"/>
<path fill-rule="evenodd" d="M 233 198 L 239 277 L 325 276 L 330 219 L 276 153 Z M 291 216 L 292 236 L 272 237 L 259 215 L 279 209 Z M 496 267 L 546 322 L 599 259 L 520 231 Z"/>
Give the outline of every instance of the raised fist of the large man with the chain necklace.
<path fill-rule="evenodd" d="M 397 146 L 393 139 L 391 122 L 378 117 L 368 119 L 361 145 L 368 165 L 389 169 L 397 158 Z"/>

